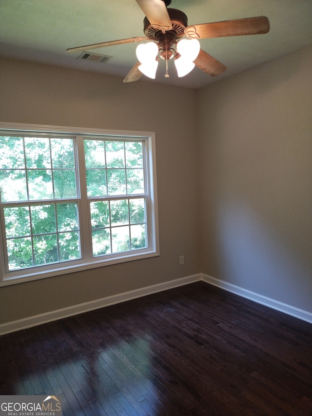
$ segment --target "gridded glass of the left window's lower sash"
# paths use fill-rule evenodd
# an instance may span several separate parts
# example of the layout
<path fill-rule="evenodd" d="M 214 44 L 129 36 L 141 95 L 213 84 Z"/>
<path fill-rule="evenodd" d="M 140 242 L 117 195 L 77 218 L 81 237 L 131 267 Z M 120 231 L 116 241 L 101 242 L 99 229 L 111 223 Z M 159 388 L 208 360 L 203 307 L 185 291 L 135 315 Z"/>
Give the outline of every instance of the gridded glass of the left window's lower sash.
<path fill-rule="evenodd" d="M 3 208 L 8 270 L 81 257 L 77 203 Z"/>

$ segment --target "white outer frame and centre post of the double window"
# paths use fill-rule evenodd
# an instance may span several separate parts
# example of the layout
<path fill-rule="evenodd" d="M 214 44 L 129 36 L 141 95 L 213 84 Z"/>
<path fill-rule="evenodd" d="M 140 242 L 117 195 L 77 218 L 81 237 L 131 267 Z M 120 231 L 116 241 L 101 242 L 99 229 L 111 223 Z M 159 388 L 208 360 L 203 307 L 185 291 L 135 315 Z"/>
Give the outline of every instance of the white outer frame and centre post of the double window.
<path fill-rule="evenodd" d="M 146 219 L 147 219 L 147 236 L 148 243 L 144 249 L 114 253 L 112 255 L 104 255 L 103 257 L 92 257 L 90 255 L 91 247 L 91 228 L 88 226 L 89 213 L 88 203 L 85 196 L 77 198 L 78 204 L 81 205 L 79 210 L 80 233 L 81 233 L 81 252 L 82 257 L 78 260 L 69 260 L 64 262 L 52 263 L 43 266 L 35 266 L 21 270 L 6 271 L 5 270 L 5 253 L 3 238 L 0 236 L 0 286 L 21 283 L 30 280 L 41 279 L 45 277 L 53 277 L 68 273 L 74 273 L 82 270 L 103 267 L 142 258 L 150 258 L 159 256 L 159 237 L 158 237 L 158 211 L 157 211 L 157 186 L 156 186 L 156 145 L 154 132 L 134 132 L 119 130 L 102 130 L 102 129 L 86 129 L 81 127 L 60 127 L 36 124 L 20 124 L 20 123 L 4 123 L 0 122 L 0 136 L 6 134 L 14 135 L 55 135 L 63 134 L 77 138 L 77 145 L 83 146 L 84 138 L 101 138 L 105 136 L 116 137 L 116 139 L 142 139 L 145 143 L 145 178 L 146 178 Z M 86 137 L 87 136 L 87 137 Z M 82 167 L 83 166 L 83 167 Z M 85 169 L 84 163 L 78 163 L 78 169 Z M 85 181 L 81 173 L 81 182 Z M 78 187 L 80 184 L 78 183 Z M 85 184 L 82 184 L 82 188 Z M 82 215 L 81 215 L 82 213 Z M 2 217 L 2 216 L 0 216 Z M 87 218 L 87 219 L 85 219 Z M 3 218 L 0 218 L 2 221 Z M 4 228 L 4 227 L 3 227 Z M 86 258 L 86 253 L 89 252 Z"/>

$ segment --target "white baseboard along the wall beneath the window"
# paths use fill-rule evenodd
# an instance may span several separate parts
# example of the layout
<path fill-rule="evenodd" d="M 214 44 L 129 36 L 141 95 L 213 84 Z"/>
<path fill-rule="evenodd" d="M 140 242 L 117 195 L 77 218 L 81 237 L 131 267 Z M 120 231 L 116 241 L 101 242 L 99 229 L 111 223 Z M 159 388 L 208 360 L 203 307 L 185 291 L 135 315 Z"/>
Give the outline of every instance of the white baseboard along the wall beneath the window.
<path fill-rule="evenodd" d="M 125 302 L 127 300 L 135 299 L 137 297 L 152 295 L 153 293 L 173 289 L 175 287 L 183 286 L 189 283 L 194 283 L 199 280 L 201 280 L 201 274 L 181 277 L 179 279 L 170 280 L 164 283 L 158 283 L 152 286 L 143 287 L 141 289 L 132 290 L 130 292 L 124 292 L 118 295 L 92 300 L 91 302 L 85 302 L 79 305 L 69 306 L 68 308 L 47 312 L 45 314 L 35 315 L 33 317 L 27 317 L 12 322 L 6 322 L 0 324 L 0 335 L 20 331 L 21 329 L 30 328 L 32 326 L 41 325 L 43 323 L 52 322 L 58 319 L 72 317 L 74 315 L 93 311 L 95 309 L 104 308 L 105 306 L 115 305 L 116 303 Z"/>

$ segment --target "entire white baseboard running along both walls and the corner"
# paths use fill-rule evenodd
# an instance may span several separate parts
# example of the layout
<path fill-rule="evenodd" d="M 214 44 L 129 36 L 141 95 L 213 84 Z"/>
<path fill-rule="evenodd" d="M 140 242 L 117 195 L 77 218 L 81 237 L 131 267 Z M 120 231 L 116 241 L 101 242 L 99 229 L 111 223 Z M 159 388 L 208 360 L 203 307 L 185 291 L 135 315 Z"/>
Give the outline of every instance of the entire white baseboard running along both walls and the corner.
<path fill-rule="evenodd" d="M 72 317 L 74 315 L 82 314 L 84 312 L 89 312 L 95 309 L 104 308 L 105 306 L 126 302 L 127 300 L 136 299 L 137 297 L 152 295 L 153 293 L 173 289 L 178 286 L 184 286 L 186 284 L 194 283 L 200 280 L 209 283 L 213 286 L 217 286 L 228 292 L 232 292 L 235 295 L 246 297 L 247 299 L 253 300 L 254 302 L 260 303 L 261 305 L 265 305 L 269 308 L 283 312 L 284 314 L 291 315 L 292 317 L 296 317 L 306 322 L 312 323 L 311 312 L 295 308 L 293 306 L 287 305 L 286 303 L 282 303 L 278 300 L 271 299 L 270 297 L 258 295 L 257 293 L 251 292 L 247 289 L 243 289 L 239 286 L 235 286 L 234 284 L 228 283 L 224 280 L 219 280 L 215 277 L 211 277 L 204 274 L 197 274 L 193 276 L 181 277 L 179 279 L 170 280 L 164 283 L 158 283 L 152 286 L 146 286 L 129 292 L 120 293 L 118 295 L 103 297 L 101 299 L 92 300 L 91 302 L 85 302 L 79 305 L 69 306 L 68 308 L 47 312 L 45 314 L 27 317 L 12 322 L 6 322 L 0 324 L 0 335 L 20 331 L 21 329 L 30 328 L 32 326 L 41 325 L 43 323 L 52 322 L 58 319 Z"/>

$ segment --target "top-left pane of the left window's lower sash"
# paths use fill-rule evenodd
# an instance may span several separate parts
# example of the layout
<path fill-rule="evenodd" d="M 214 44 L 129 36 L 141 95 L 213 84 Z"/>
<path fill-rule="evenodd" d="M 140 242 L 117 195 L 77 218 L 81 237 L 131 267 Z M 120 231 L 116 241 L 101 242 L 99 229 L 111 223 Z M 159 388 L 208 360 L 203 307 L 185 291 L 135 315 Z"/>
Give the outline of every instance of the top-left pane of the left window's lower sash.
<path fill-rule="evenodd" d="M 30 236 L 28 207 L 4 208 L 6 238 Z"/>

